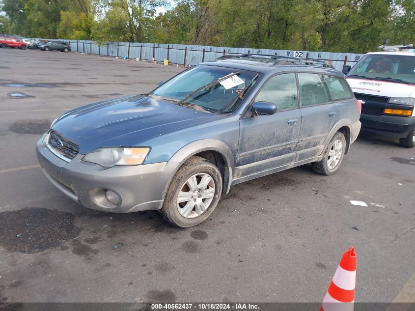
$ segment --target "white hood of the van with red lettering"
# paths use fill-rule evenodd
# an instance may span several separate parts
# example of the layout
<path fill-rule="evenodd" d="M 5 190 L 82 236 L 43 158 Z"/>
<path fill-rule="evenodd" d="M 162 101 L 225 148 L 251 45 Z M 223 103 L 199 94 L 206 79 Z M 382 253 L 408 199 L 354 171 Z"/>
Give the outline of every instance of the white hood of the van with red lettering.
<path fill-rule="evenodd" d="M 354 93 L 363 93 L 370 95 L 386 97 L 409 97 L 415 90 L 415 85 L 408 85 L 392 81 L 368 80 L 347 77 Z"/>

